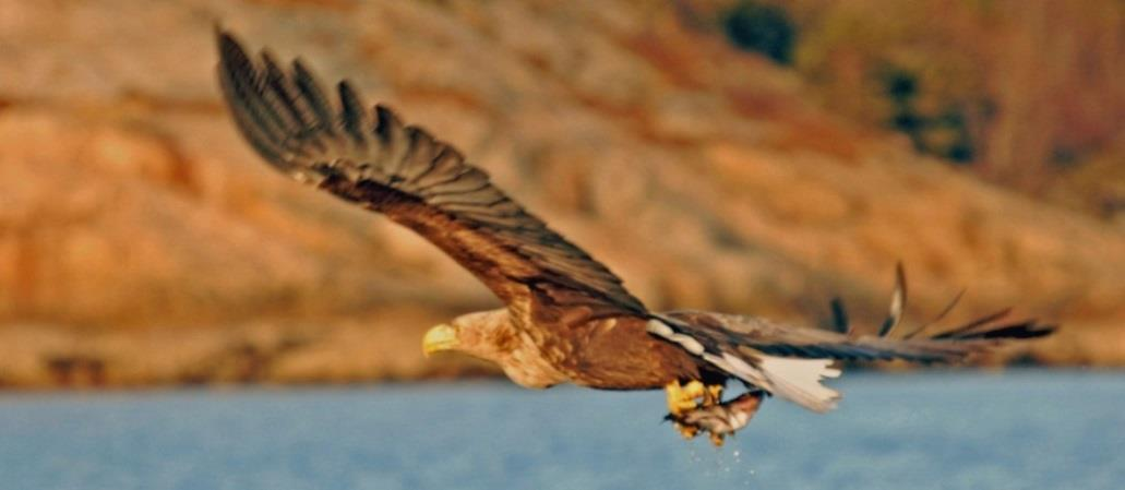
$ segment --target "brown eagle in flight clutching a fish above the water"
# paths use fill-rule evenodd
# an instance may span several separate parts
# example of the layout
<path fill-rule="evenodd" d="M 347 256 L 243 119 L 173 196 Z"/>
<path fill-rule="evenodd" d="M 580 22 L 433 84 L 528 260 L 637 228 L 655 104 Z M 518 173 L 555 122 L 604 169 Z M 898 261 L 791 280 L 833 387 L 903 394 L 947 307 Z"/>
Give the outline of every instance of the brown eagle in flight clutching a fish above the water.
<path fill-rule="evenodd" d="M 684 435 L 702 428 L 720 444 L 763 393 L 817 412 L 832 409 L 840 395 L 821 380 L 839 375 L 837 360 L 956 362 L 1004 339 L 1053 330 L 1035 321 L 996 324 L 999 317 L 990 315 L 935 336 L 892 339 L 897 318 L 880 335 L 856 335 L 705 311 L 652 312 L 452 145 L 404 125 L 385 106 L 364 105 L 346 81 L 330 95 L 300 60 L 284 69 L 267 51 L 252 60 L 231 34 L 217 36 L 226 103 L 266 161 L 414 230 L 504 302 L 430 329 L 426 355 L 466 353 L 528 387 L 665 389 L 669 417 Z M 729 380 L 749 391 L 723 404 Z"/>

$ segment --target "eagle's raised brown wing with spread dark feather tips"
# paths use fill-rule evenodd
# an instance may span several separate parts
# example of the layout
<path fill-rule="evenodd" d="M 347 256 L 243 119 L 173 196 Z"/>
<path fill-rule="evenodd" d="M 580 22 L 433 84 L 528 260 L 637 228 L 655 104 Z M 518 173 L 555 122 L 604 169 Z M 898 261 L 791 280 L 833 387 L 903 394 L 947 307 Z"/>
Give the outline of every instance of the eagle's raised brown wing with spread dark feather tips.
<path fill-rule="evenodd" d="M 252 61 L 218 33 L 218 78 L 242 134 L 289 176 L 386 214 L 469 269 L 505 303 L 642 313 L 605 266 L 525 212 L 451 145 L 369 110 L 348 82 L 331 100 L 298 60 Z"/>

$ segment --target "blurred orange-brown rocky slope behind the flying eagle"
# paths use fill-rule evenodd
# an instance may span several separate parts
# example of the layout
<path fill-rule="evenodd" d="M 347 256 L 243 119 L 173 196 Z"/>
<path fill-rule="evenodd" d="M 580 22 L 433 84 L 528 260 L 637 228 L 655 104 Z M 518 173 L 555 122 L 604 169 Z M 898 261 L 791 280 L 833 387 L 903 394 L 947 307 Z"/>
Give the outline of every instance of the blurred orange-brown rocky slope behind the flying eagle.
<path fill-rule="evenodd" d="M 422 240 L 274 173 L 214 24 L 350 78 L 654 308 L 872 328 L 1016 305 L 1027 359 L 1125 365 L 1125 232 L 834 115 L 664 1 L 0 0 L 0 385 L 488 373 L 421 332 L 496 301 Z M 1023 356 L 1005 351 L 993 362 Z"/>

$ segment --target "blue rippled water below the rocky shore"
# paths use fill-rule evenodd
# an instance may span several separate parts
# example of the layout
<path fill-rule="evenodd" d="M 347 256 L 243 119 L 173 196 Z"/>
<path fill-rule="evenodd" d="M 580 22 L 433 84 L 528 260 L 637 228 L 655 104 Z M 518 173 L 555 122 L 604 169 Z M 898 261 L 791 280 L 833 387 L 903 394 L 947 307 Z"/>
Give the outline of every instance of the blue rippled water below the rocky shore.
<path fill-rule="evenodd" d="M 659 392 L 502 383 L 0 395 L 3 489 L 1122 489 L 1125 376 L 849 374 L 722 449 Z"/>

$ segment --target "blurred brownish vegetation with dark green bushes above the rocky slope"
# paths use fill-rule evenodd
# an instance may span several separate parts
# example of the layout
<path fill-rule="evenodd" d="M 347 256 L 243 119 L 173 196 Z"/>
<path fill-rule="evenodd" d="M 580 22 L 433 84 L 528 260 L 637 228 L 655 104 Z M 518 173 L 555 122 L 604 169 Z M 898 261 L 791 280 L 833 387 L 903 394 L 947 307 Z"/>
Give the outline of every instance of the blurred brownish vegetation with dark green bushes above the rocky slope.
<path fill-rule="evenodd" d="M 1125 161 L 1120 1 L 686 3 L 713 9 L 734 44 L 791 64 L 854 121 L 1099 217 L 1125 208 L 1122 186 L 1106 184 L 1119 171 L 1080 170 Z M 1068 178 L 1078 171 L 1104 178 Z"/>

